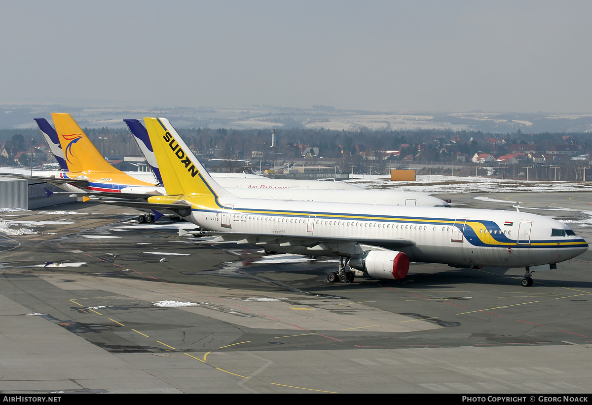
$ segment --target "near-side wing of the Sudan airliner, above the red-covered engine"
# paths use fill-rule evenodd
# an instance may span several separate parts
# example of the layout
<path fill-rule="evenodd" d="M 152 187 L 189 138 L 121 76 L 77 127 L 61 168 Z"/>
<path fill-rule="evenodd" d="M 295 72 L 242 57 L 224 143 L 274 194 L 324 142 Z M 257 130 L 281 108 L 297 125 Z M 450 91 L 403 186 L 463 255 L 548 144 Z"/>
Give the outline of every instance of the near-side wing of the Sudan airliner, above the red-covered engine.
<path fill-rule="evenodd" d="M 239 232 L 210 232 L 210 231 L 185 231 L 179 229 L 179 236 L 191 234 L 194 236 L 215 236 L 217 242 L 234 242 L 248 244 L 274 250 L 274 246 L 294 248 L 294 253 L 301 254 L 323 254 L 339 253 L 344 255 L 355 255 L 363 250 L 395 250 L 413 246 L 416 243 L 408 239 L 359 239 L 352 240 L 348 237 L 322 237 L 318 235 L 307 236 L 283 236 L 283 235 L 256 235 L 241 234 Z"/>

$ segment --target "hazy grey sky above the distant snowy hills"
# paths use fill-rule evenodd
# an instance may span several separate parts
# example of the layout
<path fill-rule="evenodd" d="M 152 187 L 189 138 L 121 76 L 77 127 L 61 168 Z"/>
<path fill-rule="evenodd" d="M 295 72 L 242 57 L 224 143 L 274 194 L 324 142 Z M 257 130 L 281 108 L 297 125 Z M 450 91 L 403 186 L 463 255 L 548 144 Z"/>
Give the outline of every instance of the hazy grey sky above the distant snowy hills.
<path fill-rule="evenodd" d="M 592 113 L 589 0 L 0 7 L 0 104 Z"/>

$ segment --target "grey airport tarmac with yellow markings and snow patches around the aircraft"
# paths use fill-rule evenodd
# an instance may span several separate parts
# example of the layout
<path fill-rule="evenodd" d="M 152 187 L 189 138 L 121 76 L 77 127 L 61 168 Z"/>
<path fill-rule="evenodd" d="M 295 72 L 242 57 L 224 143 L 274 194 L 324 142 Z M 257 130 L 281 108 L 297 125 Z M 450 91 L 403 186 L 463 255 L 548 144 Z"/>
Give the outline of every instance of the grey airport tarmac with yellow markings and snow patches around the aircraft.
<path fill-rule="evenodd" d="M 592 241 L 592 193 L 437 197 L 519 205 Z M 330 284 L 334 258 L 178 237 L 191 224 L 136 215 L 0 214 L 37 232 L 0 234 L 2 393 L 591 391 L 590 251 L 529 288 L 523 269 L 426 263 L 400 282 Z"/>

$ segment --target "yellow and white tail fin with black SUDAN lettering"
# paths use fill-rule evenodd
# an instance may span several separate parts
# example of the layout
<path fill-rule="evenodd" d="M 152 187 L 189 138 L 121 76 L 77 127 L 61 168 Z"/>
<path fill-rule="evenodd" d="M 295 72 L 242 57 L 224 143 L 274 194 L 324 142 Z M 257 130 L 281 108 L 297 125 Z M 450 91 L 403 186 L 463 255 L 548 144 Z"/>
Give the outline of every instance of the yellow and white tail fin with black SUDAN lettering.
<path fill-rule="evenodd" d="M 144 118 L 167 194 L 236 197 L 205 171 L 175 128 L 165 118 Z"/>

